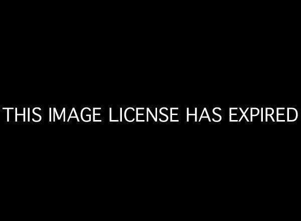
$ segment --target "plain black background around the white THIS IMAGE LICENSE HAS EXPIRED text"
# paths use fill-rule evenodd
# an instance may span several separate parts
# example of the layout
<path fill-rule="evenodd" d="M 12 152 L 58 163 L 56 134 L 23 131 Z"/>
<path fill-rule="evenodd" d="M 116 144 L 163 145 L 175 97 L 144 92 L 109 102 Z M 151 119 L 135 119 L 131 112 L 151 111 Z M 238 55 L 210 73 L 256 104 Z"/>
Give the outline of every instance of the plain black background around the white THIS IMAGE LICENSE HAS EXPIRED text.
<path fill-rule="evenodd" d="M 155 217 L 294 209 L 299 120 L 231 124 L 227 113 L 299 111 L 291 9 L 49 7 L 4 15 L 1 107 L 179 106 L 181 123 L 2 121 L 7 208 Z M 186 107 L 215 106 L 220 124 L 185 123 Z"/>

